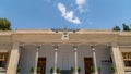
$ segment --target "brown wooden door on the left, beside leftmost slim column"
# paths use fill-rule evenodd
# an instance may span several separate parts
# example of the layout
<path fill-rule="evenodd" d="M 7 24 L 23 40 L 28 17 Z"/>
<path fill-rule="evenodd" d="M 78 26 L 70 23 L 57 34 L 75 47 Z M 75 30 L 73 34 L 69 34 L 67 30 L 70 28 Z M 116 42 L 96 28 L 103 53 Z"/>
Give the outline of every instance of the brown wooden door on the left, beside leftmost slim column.
<path fill-rule="evenodd" d="M 40 74 L 46 72 L 46 58 L 38 58 L 37 67 L 40 70 Z"/>

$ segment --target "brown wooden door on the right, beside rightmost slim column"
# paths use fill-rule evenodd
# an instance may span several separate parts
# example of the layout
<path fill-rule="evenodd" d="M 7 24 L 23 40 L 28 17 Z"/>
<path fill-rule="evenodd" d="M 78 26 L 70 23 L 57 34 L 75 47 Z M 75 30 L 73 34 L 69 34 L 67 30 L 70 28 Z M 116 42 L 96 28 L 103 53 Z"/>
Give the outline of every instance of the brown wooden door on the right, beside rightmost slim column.
<path fill-rule="evenodd" d="M 91 74 L 91 66 L 93 66 L 92 58 L 84 58 L 85 74 Z"/>

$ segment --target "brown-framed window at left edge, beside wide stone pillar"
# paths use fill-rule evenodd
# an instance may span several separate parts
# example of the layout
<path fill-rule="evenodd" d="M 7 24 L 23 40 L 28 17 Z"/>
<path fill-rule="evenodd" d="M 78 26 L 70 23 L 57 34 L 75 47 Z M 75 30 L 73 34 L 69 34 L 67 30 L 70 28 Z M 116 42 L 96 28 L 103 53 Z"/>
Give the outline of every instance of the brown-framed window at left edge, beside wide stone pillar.
<path fill-rule="evenodd" d="M 8 52 L 0 52 L 0 67 L 5 67 L 8 60 Z"/>

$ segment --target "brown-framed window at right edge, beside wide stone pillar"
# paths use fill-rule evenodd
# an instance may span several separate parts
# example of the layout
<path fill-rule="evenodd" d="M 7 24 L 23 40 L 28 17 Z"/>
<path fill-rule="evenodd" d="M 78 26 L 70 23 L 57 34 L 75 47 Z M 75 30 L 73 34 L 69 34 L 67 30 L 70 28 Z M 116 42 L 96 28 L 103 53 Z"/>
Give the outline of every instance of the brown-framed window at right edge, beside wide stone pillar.
<path fill-rule="evenodd" d="M 123 62 L 126 67 L 131 67 L 131 52 L 122 52 Z"/>

